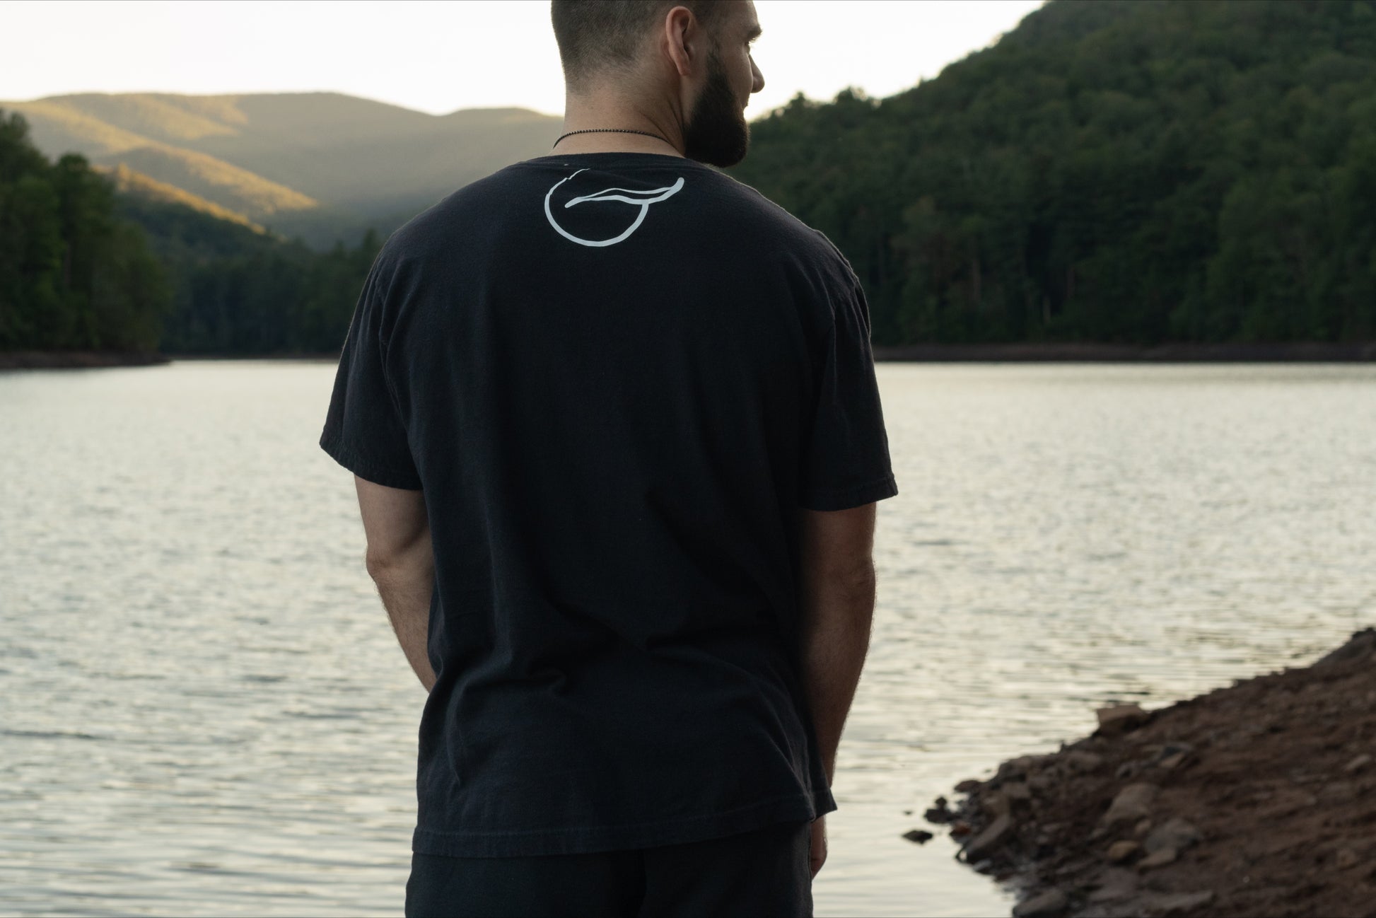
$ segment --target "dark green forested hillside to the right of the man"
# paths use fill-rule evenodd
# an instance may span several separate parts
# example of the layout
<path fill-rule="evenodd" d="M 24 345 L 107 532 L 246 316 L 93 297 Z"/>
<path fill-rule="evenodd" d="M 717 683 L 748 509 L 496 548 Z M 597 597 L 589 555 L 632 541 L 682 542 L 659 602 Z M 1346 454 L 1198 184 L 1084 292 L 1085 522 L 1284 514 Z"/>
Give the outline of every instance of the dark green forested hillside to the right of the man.
<path fill-rule="evenodd" d="M 733 175 L 826 231 L 874 340 L 1376 339 L 1376 4 L 1053 0 Z"/>

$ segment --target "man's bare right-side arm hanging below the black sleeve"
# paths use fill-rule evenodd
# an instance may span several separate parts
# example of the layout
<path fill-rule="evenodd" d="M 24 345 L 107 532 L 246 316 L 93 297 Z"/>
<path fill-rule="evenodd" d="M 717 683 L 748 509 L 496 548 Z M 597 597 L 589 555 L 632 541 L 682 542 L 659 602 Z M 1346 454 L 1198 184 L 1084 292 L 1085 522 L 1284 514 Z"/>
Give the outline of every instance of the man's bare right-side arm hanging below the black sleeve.
<path fill-rule="evenodd" d="M 875 505 L 799 513 L 802 680 L 830 784 L 841 731 L 870 650 Z"/>

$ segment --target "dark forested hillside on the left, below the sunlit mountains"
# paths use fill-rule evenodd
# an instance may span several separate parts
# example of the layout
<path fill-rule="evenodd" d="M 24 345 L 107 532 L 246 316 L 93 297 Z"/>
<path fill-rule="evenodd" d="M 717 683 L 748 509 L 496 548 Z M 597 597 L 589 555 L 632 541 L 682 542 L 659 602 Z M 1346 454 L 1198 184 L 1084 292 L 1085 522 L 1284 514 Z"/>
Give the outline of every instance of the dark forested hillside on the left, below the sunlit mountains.
<path fill-rule="evenodd" d="M 52 164 L 0 111 L 0 351 L 329 354 L 378 248 L 315 252 L 80 154 Z"/>

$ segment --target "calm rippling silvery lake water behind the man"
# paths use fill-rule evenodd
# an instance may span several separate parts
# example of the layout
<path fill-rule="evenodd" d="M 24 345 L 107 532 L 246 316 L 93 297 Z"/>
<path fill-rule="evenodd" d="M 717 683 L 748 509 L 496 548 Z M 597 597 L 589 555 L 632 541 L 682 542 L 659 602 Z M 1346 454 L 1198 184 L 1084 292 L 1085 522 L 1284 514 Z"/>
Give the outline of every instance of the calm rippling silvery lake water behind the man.
<path fill-rule="evenodd" d="M 329 363 L 0 373 L 0 912 L 400 914 L 422 690 Z M 952 783 L 1376 619 L 1376 366 L 881 365 L 819 915 L 996 915 Z M 905 809 L 914 811 L 904 815 Z"/>

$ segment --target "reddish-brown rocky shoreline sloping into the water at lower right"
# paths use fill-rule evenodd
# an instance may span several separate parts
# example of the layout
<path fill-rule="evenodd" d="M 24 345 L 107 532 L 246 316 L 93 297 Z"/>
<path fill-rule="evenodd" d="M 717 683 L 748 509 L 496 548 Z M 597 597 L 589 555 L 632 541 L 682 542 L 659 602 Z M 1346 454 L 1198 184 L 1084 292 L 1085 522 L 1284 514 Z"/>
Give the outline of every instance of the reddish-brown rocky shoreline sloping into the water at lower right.
<path fill-rule="evenodd" d="M 1098 720 L 926 813 L 1017 890 L 1017 918 L 1376 917 L 1376 629 Z"/>

